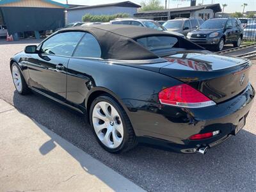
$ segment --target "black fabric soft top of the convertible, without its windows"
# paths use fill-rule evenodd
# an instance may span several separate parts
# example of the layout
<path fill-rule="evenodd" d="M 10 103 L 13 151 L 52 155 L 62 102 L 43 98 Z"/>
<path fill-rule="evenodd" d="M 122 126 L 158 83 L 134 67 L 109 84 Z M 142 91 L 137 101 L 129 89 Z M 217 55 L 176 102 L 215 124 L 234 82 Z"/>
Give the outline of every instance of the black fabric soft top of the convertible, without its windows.
<path fill-rule="evenodd" d="M 97 38 L 104 59 L 118 60 L 151 60 L 158 56 L 136 42 L 136 38 L 143 36 L 175 36 L 155 29 L 140 26 L 99 24 L 92 26 L 77 26 L 75 28 L 61 29 L 65 31 L 84 31 Z M 176 36 L 180 40 L 184 40 Z M 199 46 L 198 46 L 199 47 Z M 197 48 L 198 48 L 197 47 Z"/>

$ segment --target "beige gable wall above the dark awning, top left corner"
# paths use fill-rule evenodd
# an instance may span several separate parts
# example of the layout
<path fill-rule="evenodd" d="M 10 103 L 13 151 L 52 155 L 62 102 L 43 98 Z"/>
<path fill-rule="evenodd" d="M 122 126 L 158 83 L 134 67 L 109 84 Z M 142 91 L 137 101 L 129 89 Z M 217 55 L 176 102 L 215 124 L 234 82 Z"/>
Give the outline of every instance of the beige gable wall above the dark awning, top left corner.
<path fill-rule="evenodd" d="M 42 8 L 63 8 L 56 4 L 47 3 L 41 0 L 22 0 L 14 3 L 6 3 L 0 6 L 18 6 L 18 7 L 42 7 Z"/>

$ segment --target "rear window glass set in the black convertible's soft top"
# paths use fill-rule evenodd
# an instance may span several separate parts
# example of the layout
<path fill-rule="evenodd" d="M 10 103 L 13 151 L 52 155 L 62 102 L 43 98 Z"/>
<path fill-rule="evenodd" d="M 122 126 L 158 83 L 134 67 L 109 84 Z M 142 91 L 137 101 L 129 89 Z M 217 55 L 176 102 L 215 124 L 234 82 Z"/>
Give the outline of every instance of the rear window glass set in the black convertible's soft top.
<path fill-rule="evenodd" d="M 138 38 L 137 42 L 149 51 L 156 53 L 170 51 L 178 43 L 178 39 L 173 36 L 147 36 Z"/>

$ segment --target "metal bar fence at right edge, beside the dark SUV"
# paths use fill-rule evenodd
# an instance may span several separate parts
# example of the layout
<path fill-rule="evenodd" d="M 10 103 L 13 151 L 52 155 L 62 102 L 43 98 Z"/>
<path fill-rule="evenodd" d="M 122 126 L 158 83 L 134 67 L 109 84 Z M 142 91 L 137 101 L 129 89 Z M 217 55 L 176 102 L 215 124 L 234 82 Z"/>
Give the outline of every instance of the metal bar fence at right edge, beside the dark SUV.
<path fill-rule="evenodd" d="M 244 28 L 243 41 L 256 42 L 256 18 L 239 18 Z"/>

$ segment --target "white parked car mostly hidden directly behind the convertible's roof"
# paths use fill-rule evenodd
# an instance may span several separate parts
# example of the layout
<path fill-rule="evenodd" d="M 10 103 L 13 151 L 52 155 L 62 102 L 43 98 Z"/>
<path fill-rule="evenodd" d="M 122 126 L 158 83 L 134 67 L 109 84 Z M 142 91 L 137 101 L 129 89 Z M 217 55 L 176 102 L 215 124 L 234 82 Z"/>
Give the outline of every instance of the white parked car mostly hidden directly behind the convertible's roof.
<path fill-rule="evenodd" d="M 141 26 L 144 28 L 150 28 L 150 29 L 156 29 L 158 31 L 164 31 L 166 33 L 172 33 L 173 35 L 180 36 L 182 38 L 185 38 L 184 35 L 181 33 L 177 33 L 174 31 L 167 31 L 166 28 L 164 28 L 161 24 L 157 23 L 154 20 L 148 20 L 148 19 L 134 19 L 134 18 L 128 18 L 128 19 L 115 19 L 111 20 L 109 24 L 123 24 L 123 25 L 132 25 L 132 26 Z"/>

